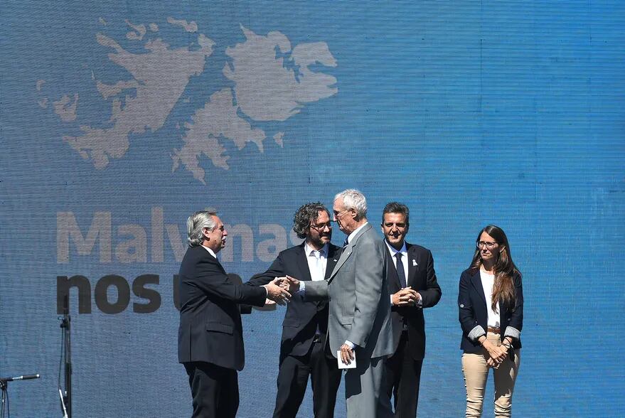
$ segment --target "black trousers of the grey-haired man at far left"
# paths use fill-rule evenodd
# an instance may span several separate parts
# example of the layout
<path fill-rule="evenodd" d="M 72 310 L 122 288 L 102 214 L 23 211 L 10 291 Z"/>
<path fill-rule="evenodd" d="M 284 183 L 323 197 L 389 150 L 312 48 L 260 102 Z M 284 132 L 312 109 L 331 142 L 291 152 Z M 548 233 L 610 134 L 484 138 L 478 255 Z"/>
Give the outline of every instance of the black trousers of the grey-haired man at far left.
<path fill-rule="evenodd" d="M 201 361 L 183 363 L 193 396 L 192 418 L 234 418 L 239 409 L 237 370 Z"/>

